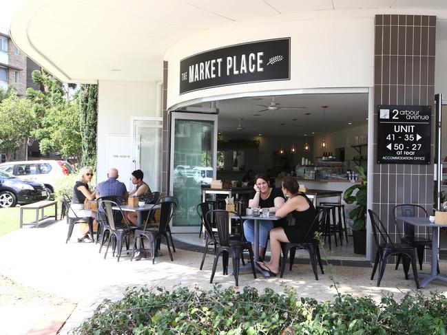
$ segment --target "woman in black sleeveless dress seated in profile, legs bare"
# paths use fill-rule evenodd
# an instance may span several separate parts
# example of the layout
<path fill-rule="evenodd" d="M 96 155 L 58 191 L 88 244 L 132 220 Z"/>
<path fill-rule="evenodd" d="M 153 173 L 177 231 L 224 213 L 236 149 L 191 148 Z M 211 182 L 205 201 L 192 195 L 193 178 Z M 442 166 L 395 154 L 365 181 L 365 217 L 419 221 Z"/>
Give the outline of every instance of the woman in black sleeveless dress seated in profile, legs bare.
<path fill-rule="evenodd" d="M 284 243 L 303 243 L 313 241 L 313 233 L 307 234 L 313 224 L 317 211 L 311 200 L 304 193 L 298 191 L 298 182 L 294 177 L 284 177 L 282 180 L 282 192 L 289 199 L 276 210 L 277 217 L 286 217 L 295 221 L 295 226 L 284 226 L 274 228 L 270 231 L 270 261 L 259 261 L 259 266 L 269 271 L 271 276 L 276 276 L 280 270 L 281 242 Z M 315 230 L 317 227 L 314 227 Z M 307 234 L 306 241 L 304 237 Z"/>

